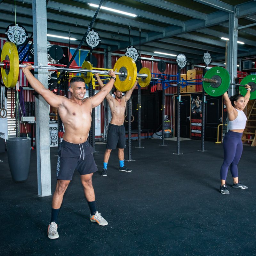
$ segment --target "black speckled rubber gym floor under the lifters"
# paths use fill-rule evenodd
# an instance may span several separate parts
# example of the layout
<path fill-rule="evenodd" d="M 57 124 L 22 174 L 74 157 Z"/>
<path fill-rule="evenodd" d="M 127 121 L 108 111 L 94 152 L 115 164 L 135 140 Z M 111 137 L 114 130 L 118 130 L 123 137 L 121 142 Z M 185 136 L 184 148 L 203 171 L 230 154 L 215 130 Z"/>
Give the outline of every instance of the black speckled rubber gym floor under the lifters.
<path fill-rule="evenodd" d="M 256 255 L 256 148 L 244 146 L 239 179 L 249 189 L 232 188 L 222 195 L 221 144 L 141 140 L 125 162 L 132 172 L 118 171 L 117 150 L 101 177 L 105 144 L 94 153 L 99 171 L 93 175 L 96 206 L 108 221 L 105 227 L 89 220 L 79 174 L 75 171 L 64 196 L 58 219 L 60 237 L 50 240 L 47 226 L 52 196 L 37 196 L 36 150 L 31 151 L 28 180 L 14 183 L 6 153 L 0 154 L 1 249 L 0 255 Z M 56 186 L 57 148 L 51 148 L 52 193 Z M 127 156 L 127 149 L 125 152 Z M 13 161 L 17 161 L 13 156 Z"/>

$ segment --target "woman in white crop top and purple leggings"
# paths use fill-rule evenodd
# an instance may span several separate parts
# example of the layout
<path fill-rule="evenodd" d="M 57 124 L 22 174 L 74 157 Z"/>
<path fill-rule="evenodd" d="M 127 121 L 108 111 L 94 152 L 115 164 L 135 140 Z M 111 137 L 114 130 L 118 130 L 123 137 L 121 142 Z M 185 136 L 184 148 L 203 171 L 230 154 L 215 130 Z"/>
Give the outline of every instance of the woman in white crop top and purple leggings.
<path fill-rule="evenodd" d="M 229 130 L 223 139 L 224 148 L 224 161 L 220 169 L 220 192 L 224 195 L 229 195 L 229 191 L 226 186 L 226 178 L 228 174 L 228 167 L 230 165 L 230 171 L 233 177 L 233 188 L 247 189 L 241 181 L 238 179 L 238 168 L 240 157 L 243 151 L 242 135 L 246 124 L 246 116 L 244 114 L 244 108 L 250 99 L 250 85 L 246 84 L 245 88 L 247 93 L 245 96 L 241 94 L 235 94 L 228 98 L 228 93 L 223 94 L 229 120 Z"/>

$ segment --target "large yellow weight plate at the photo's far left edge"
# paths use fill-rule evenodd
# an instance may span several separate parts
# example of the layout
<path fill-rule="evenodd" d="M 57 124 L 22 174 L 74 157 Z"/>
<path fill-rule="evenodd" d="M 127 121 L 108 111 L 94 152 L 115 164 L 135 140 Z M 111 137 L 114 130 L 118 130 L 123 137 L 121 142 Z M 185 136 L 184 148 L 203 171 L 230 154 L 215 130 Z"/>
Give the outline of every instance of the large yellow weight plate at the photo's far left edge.
<path fill-rule="evenodd" d="M 1 54 L 1 61 L 3 60 L 10 62 L 9 68 L 1 68 L 4 85 L 7 88 L 13 88 L 16 86 L 20 71 L 19 54 L 14 43 L 5 42 Z"/>

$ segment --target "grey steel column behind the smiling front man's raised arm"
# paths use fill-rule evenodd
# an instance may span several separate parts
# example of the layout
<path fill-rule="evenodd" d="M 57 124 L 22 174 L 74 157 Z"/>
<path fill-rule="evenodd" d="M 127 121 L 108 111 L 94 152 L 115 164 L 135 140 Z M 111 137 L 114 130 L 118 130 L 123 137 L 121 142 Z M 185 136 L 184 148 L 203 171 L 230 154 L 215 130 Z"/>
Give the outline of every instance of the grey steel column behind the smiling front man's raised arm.
<path fill-rule="evenodd" d="M 46 0 L 33 0 L 33 34 L 35 65 L 47 66 Z M 48 89 L 48 71 L 35 69 L 35 77 Z M 38 196 L 50 196 L 51 160 L 49 139 L 49 104 L 41 95 L 35 97 L 36 105 L 36 157 Z"/>

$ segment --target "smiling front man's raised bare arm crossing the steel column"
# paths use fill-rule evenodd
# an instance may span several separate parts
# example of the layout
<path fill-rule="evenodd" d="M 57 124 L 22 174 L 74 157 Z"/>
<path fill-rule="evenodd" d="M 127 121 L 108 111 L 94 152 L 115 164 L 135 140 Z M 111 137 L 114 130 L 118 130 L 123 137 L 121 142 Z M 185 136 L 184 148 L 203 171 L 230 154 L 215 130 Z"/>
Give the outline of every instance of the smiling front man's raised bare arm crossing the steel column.
<path fill-rule="evenodd" d="M 32 66 L 30 63 L 25 63 L 27 66 L 22 68 L 22 71 L 24 75 L 26 76 L 28 83 L 31 85 L 31 87 L 40 94 L 44 100 L 48 104 L 50 104 L 52 107 L 59 108 L 62 104 L 63 96 L 59 96 L 51 92 L 49 89 L 45 88 L 44 85 L 39 82 L 35 76 L 33 76 L 30 72 L 32 69 Z"/>

